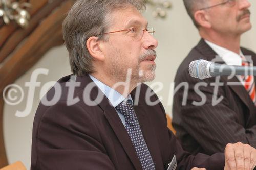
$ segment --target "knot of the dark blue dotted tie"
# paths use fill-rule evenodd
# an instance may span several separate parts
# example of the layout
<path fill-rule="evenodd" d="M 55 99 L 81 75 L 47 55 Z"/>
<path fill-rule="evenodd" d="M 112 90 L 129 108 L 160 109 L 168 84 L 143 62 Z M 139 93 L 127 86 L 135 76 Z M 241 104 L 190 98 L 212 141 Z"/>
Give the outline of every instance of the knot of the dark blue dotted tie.
<path fill-rule="evenodd" d="M 116 110 L 125 117 L 126 121 L 137 119 L 131 100 L 122 101 L 119 105 L 116 106 Z"/>

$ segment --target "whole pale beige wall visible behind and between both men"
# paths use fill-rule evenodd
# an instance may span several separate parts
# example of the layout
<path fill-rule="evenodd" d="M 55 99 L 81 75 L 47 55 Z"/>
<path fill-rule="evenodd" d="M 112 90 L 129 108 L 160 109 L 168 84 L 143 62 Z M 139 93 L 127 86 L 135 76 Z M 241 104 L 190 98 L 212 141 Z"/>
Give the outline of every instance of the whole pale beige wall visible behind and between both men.
<path fill-rule="evenodd" d="M 156 79 L 147 84 L 156 91 L 168 114 L 172 113 L 173 81 L 176 70 L 191 48 L 200 40 L 196 28 L 185 12 L 182 1 L 173 0 L 172 2 L 173 9 L 168 11 L 168 17 L 165 20 L 153 18 L 150 7 L 143 14 L 150 26 L 155 28 L 155 37 L 159 41 L 156 50 Z M 243 35 L 241 44 L 256 52 L 256 15 L 254 14 L 256 2 L 251 1 L 251 3 L 251 22 L 254 27 Z M 37 68 L 46 68 L 49 73 L 38 76 L 37 81 L 41 82 L 40 87 L 36 87 L 34 98 L 27 102 L 28 87 L 25 87 L 25 82 L 30 81 L 32 72 Z M 47 82 L 57 81 L 68 74 L 70 74 L 68 52 L 65 46 L 60 46 L 49 51 L 31 70 L 15 82 L 23 87 L 25 98 L 16 106 L 5 104 L 4 108 L 4 137 L 10 163 L 21 160 L 30 169 L 32 124 L 40 99 L 39 92 Z M 32 105 L 30 114 L 23 118 L 16 117 L 16 111 L 24 111 L 27 103 Z"/>

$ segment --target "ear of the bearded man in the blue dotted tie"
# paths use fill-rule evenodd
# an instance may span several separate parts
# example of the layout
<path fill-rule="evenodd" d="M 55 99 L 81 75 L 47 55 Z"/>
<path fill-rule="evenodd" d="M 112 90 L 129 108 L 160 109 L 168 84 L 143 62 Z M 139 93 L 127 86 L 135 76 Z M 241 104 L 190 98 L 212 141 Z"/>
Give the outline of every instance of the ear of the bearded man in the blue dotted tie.
<path fill-rule="evenodd" d="M 100 48 L 101 41 L 97 41 L 98 37 L 90 37 L 86 42 L 86 47 L 95 60 L 104 61 L 105 56 Z"/>

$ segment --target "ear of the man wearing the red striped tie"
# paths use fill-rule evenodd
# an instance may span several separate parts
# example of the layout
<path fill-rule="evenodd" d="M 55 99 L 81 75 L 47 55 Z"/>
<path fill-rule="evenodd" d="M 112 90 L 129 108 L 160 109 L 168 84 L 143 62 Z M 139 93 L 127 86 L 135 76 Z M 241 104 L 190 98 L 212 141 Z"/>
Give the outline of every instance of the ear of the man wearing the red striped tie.
<path fill-rule="evenodd" d="M 198 10 L 194 14 L 194 18 L 201 27 L 211 28 L 211 23 L 209 22 L 209 15 L 204 10 Z"/>

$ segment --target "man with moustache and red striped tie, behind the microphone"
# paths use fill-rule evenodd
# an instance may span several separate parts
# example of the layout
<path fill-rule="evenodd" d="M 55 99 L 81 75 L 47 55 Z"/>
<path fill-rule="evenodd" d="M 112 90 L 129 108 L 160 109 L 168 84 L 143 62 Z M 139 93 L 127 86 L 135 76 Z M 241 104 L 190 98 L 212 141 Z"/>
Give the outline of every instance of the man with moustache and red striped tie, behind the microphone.
<path fill-rule="evenodd" d="M 183 149 L 211 155 L 223 152 L 227 143 L 240 141 L 256 147 L 255 77 L 199 80 L 188 74 L 189 63 L 199 59 L 240 66 L 256 61 L 254 52 L 240 47 L 241 35 L 251 29 L 250 2 L 183 2 L 202 37 L 181 63 L 175 78 L 176 87 L 181 82 L 189 83 L 186 104 L 181 103 L 184 88 L 180 88 L 173 105 L 173 125 Z"/>

